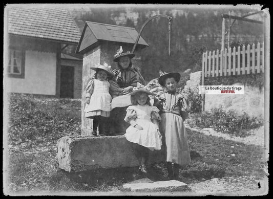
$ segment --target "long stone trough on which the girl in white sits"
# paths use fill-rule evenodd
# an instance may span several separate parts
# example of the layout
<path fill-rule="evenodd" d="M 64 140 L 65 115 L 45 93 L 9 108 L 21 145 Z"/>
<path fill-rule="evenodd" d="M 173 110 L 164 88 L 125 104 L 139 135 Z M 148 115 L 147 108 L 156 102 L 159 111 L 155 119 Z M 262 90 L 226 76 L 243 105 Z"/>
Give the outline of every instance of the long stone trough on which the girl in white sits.
<path fill-rule="evenodd" d="M 138 166 L 133 143 L 125 136 L 66 136 L 57 142 L 59 168 L 68 172 Z M 148 164 L 165 161 L 164 148 L 150 151 Z"/>

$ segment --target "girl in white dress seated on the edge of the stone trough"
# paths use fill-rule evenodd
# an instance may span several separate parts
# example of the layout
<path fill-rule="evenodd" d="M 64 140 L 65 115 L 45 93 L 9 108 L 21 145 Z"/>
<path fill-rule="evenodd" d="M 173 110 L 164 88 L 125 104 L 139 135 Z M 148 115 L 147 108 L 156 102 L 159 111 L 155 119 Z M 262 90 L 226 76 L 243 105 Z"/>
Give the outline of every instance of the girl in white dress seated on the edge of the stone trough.
<path fill-rule="evenodd" d="M 125 122 L 131 125 L 127 128 L 125 138 L 136 143 L 136 156 L 139 161 L 139 169 L 146 173 L 146 162 L 150 150 L 160 150 L 162 141 L 159 132 L 158 122 L 161 120 L 159 109 L 151 106 L 148 95 L 155 95 L 142 88 L 133 91 L 129 95 L 135 95 L 137 105 L 127 108 Z"/>

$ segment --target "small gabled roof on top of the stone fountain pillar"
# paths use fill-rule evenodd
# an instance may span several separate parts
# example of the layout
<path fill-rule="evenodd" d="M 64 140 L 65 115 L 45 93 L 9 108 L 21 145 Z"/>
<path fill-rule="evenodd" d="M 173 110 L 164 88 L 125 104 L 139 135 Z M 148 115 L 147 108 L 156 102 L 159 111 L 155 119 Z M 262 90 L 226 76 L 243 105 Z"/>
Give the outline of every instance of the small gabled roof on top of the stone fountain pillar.
<path fill-rule="evenodd" d="M 103 40 L 135 44 L 137 36 L 138 32 L 135 28 L 86 21 L 76 53 L 79 53 L 94 43 Z M 138 46 L 145 48 L 149 45 L 142 37 L 140 37 L 138 40 Z"/>

